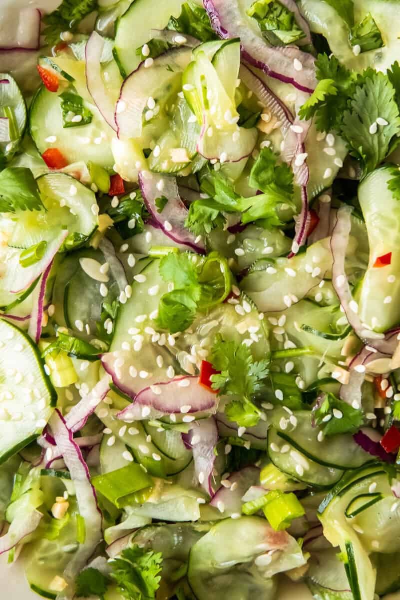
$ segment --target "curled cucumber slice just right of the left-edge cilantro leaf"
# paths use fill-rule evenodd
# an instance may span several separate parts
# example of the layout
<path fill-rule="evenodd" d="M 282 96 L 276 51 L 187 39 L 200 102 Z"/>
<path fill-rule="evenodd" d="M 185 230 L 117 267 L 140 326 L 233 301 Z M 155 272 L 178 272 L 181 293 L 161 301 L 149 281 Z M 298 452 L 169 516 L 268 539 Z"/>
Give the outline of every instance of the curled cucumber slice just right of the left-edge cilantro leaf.
<path fill-rule="evenodd" d="M 57 229 L 68 229 L 60 251 L 83 244 L 98 227 L 98 205 L 93 191 L 65 173 L 48 173 L 36 181 L 46 212 L 23 212 L 8 245 L 29 248 L 52 239 Z"/>

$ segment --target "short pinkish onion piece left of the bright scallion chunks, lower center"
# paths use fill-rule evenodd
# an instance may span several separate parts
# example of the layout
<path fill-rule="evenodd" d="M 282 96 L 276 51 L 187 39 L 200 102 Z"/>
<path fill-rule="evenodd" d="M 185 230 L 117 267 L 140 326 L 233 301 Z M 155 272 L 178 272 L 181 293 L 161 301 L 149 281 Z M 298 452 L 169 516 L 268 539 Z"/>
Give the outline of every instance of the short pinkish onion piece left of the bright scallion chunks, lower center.
<path fill-rule="evenodd" d="M 221 518 L 231 517 L 232 514 L 240 515 L 242 512 L 242 497 L 247 490 L 259 481 L 260 469 L 257 467 L 244 467 L 240 471 L 232 473 L 223 479 L 223 485 L 214 495 L 210 502 L 211 506 L 217 508 Z M 266 494 L 266 490 L 263 490 Z"/>

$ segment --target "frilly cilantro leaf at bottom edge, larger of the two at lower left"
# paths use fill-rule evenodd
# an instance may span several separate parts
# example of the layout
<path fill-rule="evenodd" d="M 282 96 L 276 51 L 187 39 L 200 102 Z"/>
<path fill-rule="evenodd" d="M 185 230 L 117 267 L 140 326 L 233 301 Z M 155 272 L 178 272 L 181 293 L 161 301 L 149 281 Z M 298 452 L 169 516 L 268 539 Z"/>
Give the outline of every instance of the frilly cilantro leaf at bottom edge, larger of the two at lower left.
<path fill-rule="evenodd" d="M 127 600 L 154 600 L 160 584 L 162 554 L 135 545 L 110 562 L 111 577 Z"/>

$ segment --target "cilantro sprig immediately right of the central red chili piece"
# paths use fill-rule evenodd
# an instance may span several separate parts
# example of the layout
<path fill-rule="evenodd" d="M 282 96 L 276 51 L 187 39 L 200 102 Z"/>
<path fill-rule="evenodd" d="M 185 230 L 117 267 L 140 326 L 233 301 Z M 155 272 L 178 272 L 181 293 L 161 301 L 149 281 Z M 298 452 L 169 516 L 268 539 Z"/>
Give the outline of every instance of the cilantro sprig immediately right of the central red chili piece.
<path fill-rule="evenodd" d="M 249 346 L 225 341 L 218 335 L 211 349 L 210 362 L 216 371 L 220 371 L 211 376 L 213 389 L 220 395 L 235 396 L 225 407 L 228 419 L 241 427 L 256 425 L 260 410 L 253 403 L 253 397 L 268 376 L 268 360 L 256 362 Z"/>

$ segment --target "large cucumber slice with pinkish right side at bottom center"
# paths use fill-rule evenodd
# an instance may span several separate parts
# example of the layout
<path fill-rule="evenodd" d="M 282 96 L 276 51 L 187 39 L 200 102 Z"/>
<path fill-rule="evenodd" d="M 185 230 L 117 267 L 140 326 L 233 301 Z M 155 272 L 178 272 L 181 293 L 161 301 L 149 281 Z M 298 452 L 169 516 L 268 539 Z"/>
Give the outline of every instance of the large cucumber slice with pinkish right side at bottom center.
<path fill-rule="evenodd" d="M 258 556 L 276 551 L 269 565 L 257 565 Z M 232 600 L 274 598 L 272 575 L 304 565 L 299 545 L 286 532 L 275 532 L 260 517 L 220 521 L 189 554 L 187 579 L 198 600 L 217 600 L 221 590 Z"/>

